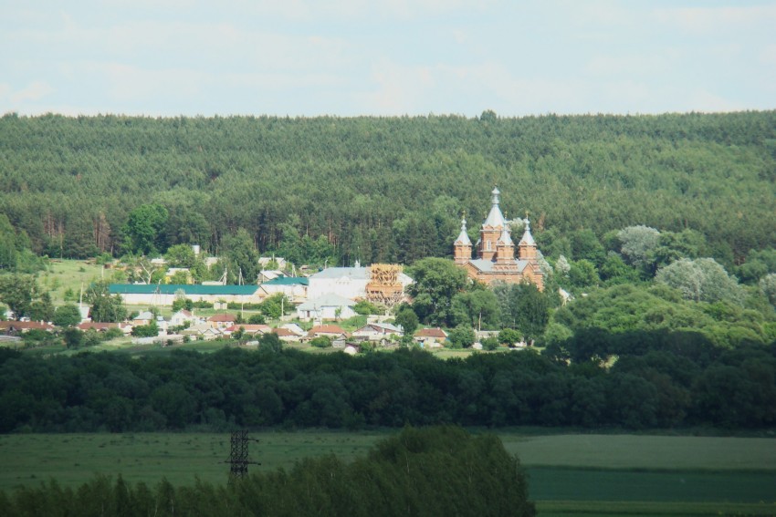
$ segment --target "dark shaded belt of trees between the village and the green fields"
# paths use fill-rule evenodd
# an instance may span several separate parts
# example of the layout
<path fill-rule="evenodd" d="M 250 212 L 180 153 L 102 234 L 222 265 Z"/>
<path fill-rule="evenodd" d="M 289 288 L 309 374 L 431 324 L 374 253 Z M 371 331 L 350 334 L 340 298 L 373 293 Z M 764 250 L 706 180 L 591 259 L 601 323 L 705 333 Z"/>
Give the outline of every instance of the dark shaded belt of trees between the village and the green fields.
<path fill-rule="evenodd" d="M 544 355 L 446 361 L 275 345 L 139 359 L 3 350 L 0 431 L 776 424 L 776 343 L 726 350 L 694 332 L 588 331 Z"/>

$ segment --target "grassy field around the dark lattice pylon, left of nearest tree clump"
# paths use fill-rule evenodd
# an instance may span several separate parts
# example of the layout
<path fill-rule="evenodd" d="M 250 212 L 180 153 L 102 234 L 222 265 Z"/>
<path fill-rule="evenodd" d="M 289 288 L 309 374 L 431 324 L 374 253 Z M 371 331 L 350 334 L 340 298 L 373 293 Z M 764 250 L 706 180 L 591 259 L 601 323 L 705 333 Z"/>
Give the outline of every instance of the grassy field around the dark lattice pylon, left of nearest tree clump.
<path fill-rule="evenodd" d="M 290 468 L 308 456 L 336 454 L 351 460 L 385 436 L 381 433 L 265 432 L 250 444 L 256 470 Z M 174 484 L 203 481 L 223 483 L 229 466 L 229 434 L 135 433 L 0 436 L 0 490 L 35 485 L 56 478 L 76 486 L 95 473 L 121 475 L 127 481 L 153 484 L 166 477 Z"/>

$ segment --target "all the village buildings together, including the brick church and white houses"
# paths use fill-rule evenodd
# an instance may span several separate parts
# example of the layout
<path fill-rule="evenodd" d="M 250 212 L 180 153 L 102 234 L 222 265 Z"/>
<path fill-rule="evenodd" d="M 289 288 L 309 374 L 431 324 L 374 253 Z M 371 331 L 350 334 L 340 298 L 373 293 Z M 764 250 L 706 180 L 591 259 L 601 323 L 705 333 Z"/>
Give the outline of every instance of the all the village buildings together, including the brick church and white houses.
<path fill-rule="evenodd" d="M 512 222 L 501 212 L 499 194 L 498 188 L 491 192 L 490 210 L 480 226 L 477 243 L 472 244 L 467 232 L 467 221 L 462 219 L 461 231 L 453 243 L 455 264 L 463 268 L 471 279 L 484 284 L 528 281 L 536 284 L 541 290 L 544 287 L 544 273 L 540 268 L 540 253 L 530 233 L 530 222 L 528 218 L 519 221 L 523 225 L 523 234 L 516 244 L 511 237 Z M 262 258 L 259 262 L 261 265 L 268 265 L 283 264 L 284 261 L 282 258 L 273 257 Z M 325 321 L 343 320 L 356 315 L 354 307 L 361 300 L 388 307 L 405 300 L 405 288 L 413 280 L 396 264 L 372 264 L 366 267 L 356 264 L 353 267 L 330 267 L 305 276 L 287 276 L 283 273 L 283 268 L 265 269 L 259 274 L 258 282 L 241 285 L 110 284 L 110 294 L 121 295 L 127 305 L 171 306 L 176 299 L 185 297 L 194 302 L 212 304 L 216 309 L 226 308 L 229 304 L 257 305 L 270 296 L 282 294 L 284 299 L 294 306 L 299 321 L 313 322 L 316 324 L 313 328 L 316 329 Z M 175 339 L 184 338 L 186 335 L 215 339 L 231 336 L 238 329 L 254 336 L 276 332 L 286 341 L 299 341 L 317 335 L 317 332 L 312 335 L 306 333 L 293 324 L 276 329 L 265 325 L 236 326 L 234 315 L 219 314 L 199 318 L 187 311 L 179 311 L 170 320 L 164 320 L 161 316 L 154 318 L 151 313 L 142 313 L 126 324 L 84 323 L 81 326 L 83 330 L 106 330 L 109 326 L 117 326 L 129 334 L 133 326 L 148 325 L 152 319 L 155 319 L 163 335 L 168 334 L 168 329 L 180 330 L 186 326 L 174 335 Z M 21 327 L 11 328 L 13 323 L 5 322 L 5 330 L 24 331 Z M 26 324 L 16 322 L 16 325 Z M 335 343 L 344 343 L 346 338 L 379 341 L 402 335 L 401 328 L 377 322 L 358 329 L 352 335 L 345 335 L 344 332 L 341 334 L 341 329 L 338 328 L 334 329 L 332 336 Z M 441 329 L 423 329 L 420 335 L 414 338 L 421 344 L 434 346 L 437 342 L 444 341 L 446 336 Z"/>

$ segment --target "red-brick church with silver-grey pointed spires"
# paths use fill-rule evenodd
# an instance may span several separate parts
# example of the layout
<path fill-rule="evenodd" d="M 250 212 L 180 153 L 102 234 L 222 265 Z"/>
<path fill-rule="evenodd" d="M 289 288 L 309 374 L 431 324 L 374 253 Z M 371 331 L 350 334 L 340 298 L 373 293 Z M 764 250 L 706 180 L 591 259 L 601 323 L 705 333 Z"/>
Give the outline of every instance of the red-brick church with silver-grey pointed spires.
<path fill-rule="evenodd" d="M 473 246 L 467 234 L 466 219 L 461 220 L 461 233 L 453 243 L 453 258 L 458 266 L 466 269 L 469 278 L 484 284 L 519 284 L 528 281 L 542 291 L 544 273 L 539 267 L 539 253 L 530 234 L 530 222 L 528 218 L 524 220 L 525 232 L 516 246 L 512 241 L 509 222 L 498 206 L 500 193 L 498 188 L 491 192 L 490 212 L 479 230 L 477 258 L 472 257 Z"/>

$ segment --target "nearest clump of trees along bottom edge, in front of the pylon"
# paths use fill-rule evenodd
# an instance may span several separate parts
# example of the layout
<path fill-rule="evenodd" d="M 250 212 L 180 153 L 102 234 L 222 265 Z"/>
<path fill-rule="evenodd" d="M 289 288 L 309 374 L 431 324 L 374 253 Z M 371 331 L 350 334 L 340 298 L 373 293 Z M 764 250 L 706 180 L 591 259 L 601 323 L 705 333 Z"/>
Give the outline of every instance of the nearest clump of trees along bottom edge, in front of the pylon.
<path fill-rule="evenodd" d="M 134 485 L 97 477 L 77 490 L 56 481 L 0 492 L 0 514 L 38 515 L 472 515 L 531 517 L 528 481 L 496 436 L 463 429 L 405 428 L 367 457 L 299 461 L 286 472 L 254 473 L 214 485 Z"/>

